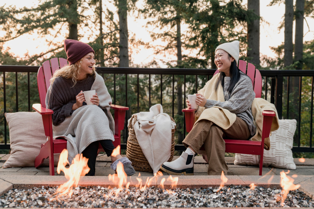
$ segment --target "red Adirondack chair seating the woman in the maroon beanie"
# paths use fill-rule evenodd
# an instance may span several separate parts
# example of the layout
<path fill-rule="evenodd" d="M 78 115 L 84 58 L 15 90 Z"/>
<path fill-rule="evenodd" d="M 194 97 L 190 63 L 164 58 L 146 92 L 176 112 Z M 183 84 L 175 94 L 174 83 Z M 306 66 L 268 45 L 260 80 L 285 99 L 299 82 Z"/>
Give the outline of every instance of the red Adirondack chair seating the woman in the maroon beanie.
<path fill-rule="evenodd" d="M 40 104 L 33 104 L 33 109 L 39 112 L 42 116 L 42 121 L 44 124 L 45 135 L 47 136 L 47 142 L 41 144 L 41 150 L 39 155 L 35 159 L 35 167 L 39 167 L 44 159 L 49 158 L 49 172 L 50 175 L 55 175 L 54 172 L 54 153 L 61 153 L 63 149 L 67 148 L 67 140 L 65 139 L 53 139 L 52 137 L 52 113 L 51 109 L 46 108 L 46 94 L 50 86 L 50 78 L 56 70 L 59 70 L 61 67 L 68 65 L 68 62 L 64 58 L 53 58 L 51 60 L 45 61 L 38 70 L 37 74 L 37 84 L 40 97 Z M 119 105 L 111 105 L 111 108 L 114 109 L 114 121 L 115 121 L 115 141 L 113 145 L 116 147 L 121 145 L 121 131 L 124 128 L 125 112 L 128 110 L 128 107 L 123 107 Z M 98 149 L 98 152 L 102 148 Z"/>

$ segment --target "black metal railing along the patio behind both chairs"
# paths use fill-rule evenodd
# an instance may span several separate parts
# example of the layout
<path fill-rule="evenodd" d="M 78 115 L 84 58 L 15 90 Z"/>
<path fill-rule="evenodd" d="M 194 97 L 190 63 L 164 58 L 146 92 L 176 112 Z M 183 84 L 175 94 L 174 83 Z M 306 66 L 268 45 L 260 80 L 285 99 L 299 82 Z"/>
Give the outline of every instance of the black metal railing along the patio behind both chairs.
<path fill-rule="evenodd" d="M 4 113 L 32 111 L 32 104 L 39 103 L 35 79 L 38 68 L 39 66 L 0 65 L 0 101 L 3 101 L 0 102 L 0 109 L 2 109 L 0 149 L 10 149 Z M 173 118 L 177 117 L 180 112 L 178 108 L 181 106 L 185 108 L 184 98 L 187 94 L 195 93 L 202 88 L 215 70 L 98 67 L 97 72 L 104 77 L 113 103 L 132 107 L 126 116 L 127 121 L 130 115 L 148 111 L 155 103 L 164 104 L 167 113 Z M 262 97 L 275 104 L 279 119 L 297 120 L 293 152 L 314 152 L 312 146 L 314 71 L 260 70 L 260 72 L 263 78 Z M 181 94 L 178 94 L 179 89 L 182 89 Z M 27 95 L 27 99 L 23 101 L 19 99 L 21 91 L 23 91 L 23 98 Z M 178 95 L 182 95 L 181 100 L 177 98 Z M 182 101 L 181 105 L 180 101 Z M 183 116 L 180 120 L 185 130 Z M 124 142 L 126 142 L 127 131 L 124 132 Z M 183 131 L 182 134 L 185 136 L 186 132 Z M 185 149 L 180 144 L 176 144 L 175 148 Z M 122 143 L 122 149 L 126 149 L 125 143 Z"/>

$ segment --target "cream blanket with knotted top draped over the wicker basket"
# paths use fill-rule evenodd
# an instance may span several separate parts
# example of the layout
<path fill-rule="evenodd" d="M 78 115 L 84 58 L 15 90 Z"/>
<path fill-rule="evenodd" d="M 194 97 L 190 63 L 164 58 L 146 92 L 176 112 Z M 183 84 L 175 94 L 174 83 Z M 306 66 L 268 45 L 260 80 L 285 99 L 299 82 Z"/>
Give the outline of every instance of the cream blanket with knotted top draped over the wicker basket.
<path fill-rule="evenodd" d="M 154 174 L 170 158 L 171 130 L 176 127 L 160 104 L 150 107 L 149 112 L 136 113 L 134 132 L 143 154 Z M 132 122 L 133 124 L 133 122 Z"/>

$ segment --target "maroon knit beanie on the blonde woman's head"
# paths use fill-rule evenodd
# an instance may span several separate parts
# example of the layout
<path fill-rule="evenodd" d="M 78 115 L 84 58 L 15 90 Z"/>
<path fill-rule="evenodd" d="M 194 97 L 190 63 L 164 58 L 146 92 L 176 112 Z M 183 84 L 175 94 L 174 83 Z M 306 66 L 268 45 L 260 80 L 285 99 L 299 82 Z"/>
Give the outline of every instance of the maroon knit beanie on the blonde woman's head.
<path fill-rule="evenodd" d="M 69 65 L 73 65 L 90 52 L 95 54 L 93 48 L 88 44 L 72 39 L 64 40 L 64 49 L 68 56 Z"/>

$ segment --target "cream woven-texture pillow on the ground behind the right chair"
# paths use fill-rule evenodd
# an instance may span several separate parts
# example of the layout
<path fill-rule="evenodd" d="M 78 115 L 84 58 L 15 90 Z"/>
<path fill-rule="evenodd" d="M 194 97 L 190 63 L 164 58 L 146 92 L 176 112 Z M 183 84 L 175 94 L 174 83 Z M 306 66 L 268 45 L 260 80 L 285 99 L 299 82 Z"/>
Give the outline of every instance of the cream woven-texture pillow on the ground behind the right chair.
<path fill-rule="evenodd" d="M 279 120 L 278 130 L 269 137 L 270 149 L 264 149 L 263 166 L 295 170 L 291 151 L 295 129 L 296 120 Z M 235 165 L 259 166 L 259 155 L 236 154 L 235 158 Z"/>

